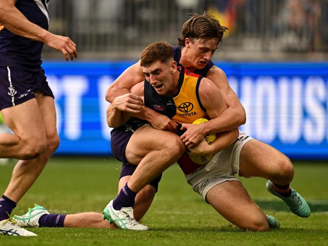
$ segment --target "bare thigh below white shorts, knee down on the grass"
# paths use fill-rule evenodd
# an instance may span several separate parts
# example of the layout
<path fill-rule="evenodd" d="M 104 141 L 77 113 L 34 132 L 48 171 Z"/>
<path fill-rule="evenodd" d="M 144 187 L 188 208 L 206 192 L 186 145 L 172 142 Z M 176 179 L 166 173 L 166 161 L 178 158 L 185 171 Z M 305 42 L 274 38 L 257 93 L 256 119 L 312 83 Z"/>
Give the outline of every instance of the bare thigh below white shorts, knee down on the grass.
<path fill-rule="evenodd" d="M 267 229 L 266 215 L 239 181 L 225 181 L 211 188 L 206 201 L 224 218 L 243 229 Z"/>

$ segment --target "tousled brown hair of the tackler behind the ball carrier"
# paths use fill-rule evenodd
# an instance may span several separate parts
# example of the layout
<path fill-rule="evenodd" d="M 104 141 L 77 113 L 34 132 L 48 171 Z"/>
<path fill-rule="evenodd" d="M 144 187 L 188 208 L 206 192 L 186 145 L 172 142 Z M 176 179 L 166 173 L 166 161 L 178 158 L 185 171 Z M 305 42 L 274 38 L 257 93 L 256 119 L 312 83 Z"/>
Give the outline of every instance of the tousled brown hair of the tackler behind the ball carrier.
<path fill-rule="evenodd" d="M 201 42 L 205 42 L 208 38 L 218 38 L 220 43 L 227 29 L 227 27 L 221 26 L 220 22 L 210 15 L 208 11 L 205 11 L 202 15 L 191 14 L 191 17 L 182 25 L 178 45 L 185 46 L 184 39 L 187 37 L 192 42 L 197 38 Z"/>

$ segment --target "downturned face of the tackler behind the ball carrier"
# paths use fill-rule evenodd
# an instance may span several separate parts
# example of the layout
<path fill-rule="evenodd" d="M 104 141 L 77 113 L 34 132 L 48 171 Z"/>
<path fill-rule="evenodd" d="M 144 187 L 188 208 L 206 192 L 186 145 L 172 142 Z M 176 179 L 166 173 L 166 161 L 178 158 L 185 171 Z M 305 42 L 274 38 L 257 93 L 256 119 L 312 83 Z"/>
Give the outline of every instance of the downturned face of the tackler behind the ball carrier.
<path fill-rule="evenodd" d="M 193 69 L 203 69 L 217 50 L 217 45 L 218 38 L 209 38 L 205 42 L 201 39 L 195 39 L 193 42 L 186 39 L 188 61 Z"/>

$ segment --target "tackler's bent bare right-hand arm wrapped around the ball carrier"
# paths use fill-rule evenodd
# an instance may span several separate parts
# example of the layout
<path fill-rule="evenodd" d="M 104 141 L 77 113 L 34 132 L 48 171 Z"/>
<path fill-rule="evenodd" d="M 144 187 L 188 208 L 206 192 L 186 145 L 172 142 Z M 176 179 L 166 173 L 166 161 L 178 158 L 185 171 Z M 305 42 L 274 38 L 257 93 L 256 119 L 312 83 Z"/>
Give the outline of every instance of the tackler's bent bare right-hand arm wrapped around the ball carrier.
<path fill-rule="evenodd" d="M 207 76 L 220 90 L 227 109 L 216 119 L 206 125 L 205 133 L 225 132 L 238 128 L 246 123 L 246 113 L 238 96 L 229 86 L 228 80 L 222 69 L 213 66 Z"/>

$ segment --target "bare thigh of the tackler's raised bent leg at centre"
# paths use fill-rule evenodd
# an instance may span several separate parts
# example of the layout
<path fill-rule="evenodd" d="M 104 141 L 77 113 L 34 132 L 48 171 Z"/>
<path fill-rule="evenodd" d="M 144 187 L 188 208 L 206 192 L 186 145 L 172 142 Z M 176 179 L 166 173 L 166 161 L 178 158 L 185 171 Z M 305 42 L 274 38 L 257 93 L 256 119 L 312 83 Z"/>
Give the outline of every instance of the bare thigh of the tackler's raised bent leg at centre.
<path fill-rule="evenodd" d="M 170 131 L 157 130 L 149 124 L 138 128 L 131 136 L 125 150 L 126 160 L 138 164 L 151 151 L 183 151 L 179 136 Z"/>

